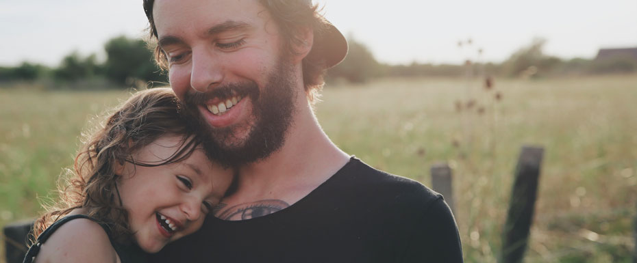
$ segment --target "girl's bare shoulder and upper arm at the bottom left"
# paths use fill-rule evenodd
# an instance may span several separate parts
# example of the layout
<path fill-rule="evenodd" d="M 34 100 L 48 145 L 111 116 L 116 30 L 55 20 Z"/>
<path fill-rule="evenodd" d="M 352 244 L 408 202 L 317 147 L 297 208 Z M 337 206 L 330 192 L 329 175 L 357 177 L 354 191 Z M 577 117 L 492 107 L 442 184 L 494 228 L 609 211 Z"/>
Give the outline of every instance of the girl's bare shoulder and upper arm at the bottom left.
<path fill-rule="evenodd" d="M 99 223 L 76 217 L 55 227 L 47 233 L 34 262 L 119 262 L 108 233 Z"/>

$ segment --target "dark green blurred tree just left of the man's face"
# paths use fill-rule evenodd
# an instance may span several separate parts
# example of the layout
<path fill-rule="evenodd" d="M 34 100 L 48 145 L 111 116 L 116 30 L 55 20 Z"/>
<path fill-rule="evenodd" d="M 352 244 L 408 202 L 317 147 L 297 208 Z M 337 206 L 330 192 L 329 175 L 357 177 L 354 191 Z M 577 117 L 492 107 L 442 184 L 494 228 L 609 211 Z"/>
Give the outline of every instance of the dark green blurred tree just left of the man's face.
<path fill-rule="evenodd" d="M 109 40 L 104 49 L 107 55 L 105 74 L 110 80 L 120 84 L 132 79 L 166 81 L 143 40 L 119 36 Z"/>

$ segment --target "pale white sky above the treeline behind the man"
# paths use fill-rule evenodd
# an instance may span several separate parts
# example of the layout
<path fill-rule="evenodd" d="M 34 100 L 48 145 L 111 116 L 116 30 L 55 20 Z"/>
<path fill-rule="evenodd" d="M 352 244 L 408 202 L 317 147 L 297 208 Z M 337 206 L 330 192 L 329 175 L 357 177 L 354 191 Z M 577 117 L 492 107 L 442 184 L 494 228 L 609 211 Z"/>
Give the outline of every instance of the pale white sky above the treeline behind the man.
<path fill-rule="evenodd" d="M 545 53 L 593 58 L 637 47 L 637 0 L 314 0 L 348 38 L 388 64 L 500 62 L 534 38 Z M 144 36 L 141 0 L 0 0 L 0 66 L 57 66 L 73 51 L 97 53 L 110 38 Z M 458 42 L 471 45 L 458 46 Z M 477 50 L 482 49 L 482 55 Z"/>

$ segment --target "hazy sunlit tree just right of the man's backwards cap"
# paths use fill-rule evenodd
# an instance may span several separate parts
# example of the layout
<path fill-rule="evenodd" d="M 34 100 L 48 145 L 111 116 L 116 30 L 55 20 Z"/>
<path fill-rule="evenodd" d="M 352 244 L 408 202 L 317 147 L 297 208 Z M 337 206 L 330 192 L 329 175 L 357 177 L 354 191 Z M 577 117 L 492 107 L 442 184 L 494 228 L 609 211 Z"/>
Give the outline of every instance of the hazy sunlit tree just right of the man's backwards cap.
<path fill-rule="evenodd" d="M 327 72 L 330 79 L 346 79 L 353 83 L 364 83 L 379 72 L 380 66 L 367 46 L 354 40 L 349 40 L 347 57 L 338 66 Z"/>

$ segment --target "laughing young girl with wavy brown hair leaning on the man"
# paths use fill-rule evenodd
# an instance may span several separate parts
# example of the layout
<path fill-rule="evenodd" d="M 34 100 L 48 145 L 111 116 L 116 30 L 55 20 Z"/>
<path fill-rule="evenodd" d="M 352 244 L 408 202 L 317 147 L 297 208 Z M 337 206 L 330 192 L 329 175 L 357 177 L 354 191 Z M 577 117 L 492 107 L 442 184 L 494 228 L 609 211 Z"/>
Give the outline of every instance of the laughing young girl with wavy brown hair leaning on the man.
<path fill-rule="evenodd" d="M 24 262 L 140 262 L 199 230 L 232 182 L 169 88 L 138 92 L 90 136 Z"/>

